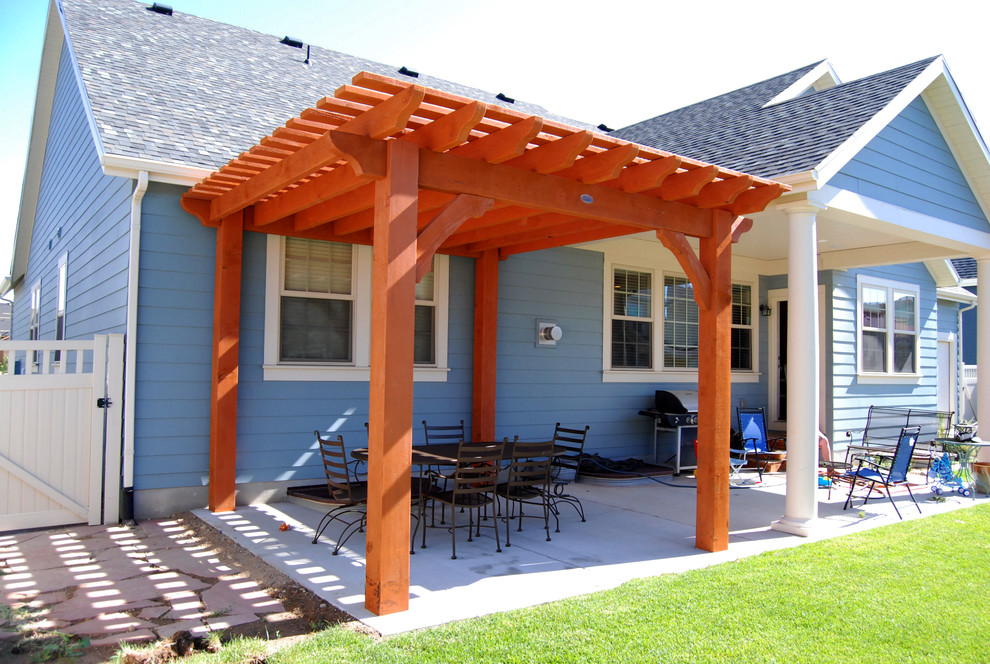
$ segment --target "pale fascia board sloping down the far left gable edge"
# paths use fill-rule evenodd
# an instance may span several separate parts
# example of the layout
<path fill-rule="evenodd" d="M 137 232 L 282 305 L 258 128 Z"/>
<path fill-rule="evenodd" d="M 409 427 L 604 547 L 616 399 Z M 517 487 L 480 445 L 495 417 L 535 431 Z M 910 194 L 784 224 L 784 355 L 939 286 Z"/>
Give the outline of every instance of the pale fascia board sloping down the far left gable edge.
<path fill-rule="evenodd" d="M 45 146 L 48 144 L 48 129 L 52 117 L 52 105 L 55 100 L 55 81 L 58 78 L 59 58 L 64 42 L 63 36 L 59 7 L 55 0 L 52 0 L 48 7 L 48 22 L 45 26 L 45 40 L 41 50 L 41 68 L 38 73 L 38 90 L 35 94 L 34 116 L 31 119 L 31 133 L 28 138 L 27 162 L 24 166 L 24 180 L 21 185 L 21 202 L 17 213 L 17 228 L 14 231 L 14 254 L 10 264 L 11 283 L 17 283 L 27 271 L 31 237 L 34 234 L 34 215 L 38 209 L 38 193 L 41 190 L 41 172 L 45 164 Z"/>

